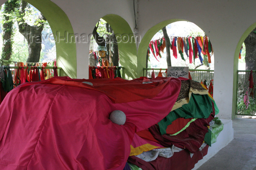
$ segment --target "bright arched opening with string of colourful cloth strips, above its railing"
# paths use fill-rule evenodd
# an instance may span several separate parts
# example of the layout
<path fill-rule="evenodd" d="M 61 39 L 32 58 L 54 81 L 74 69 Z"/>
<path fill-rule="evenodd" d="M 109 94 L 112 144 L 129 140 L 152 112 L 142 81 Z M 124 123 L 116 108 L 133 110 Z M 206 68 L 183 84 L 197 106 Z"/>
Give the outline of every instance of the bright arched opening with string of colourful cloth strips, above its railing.
<path fill-rule="evenodd" d="M 193 58 L 193 56 L 190 55 L 192 57 L 191 61 L 189 61 L 189 55 L 186 54 L 189 50 L 188 49 L 189 46 L 187 44 L 188 37 L 191 37 L 189 40 L 191 40 L 192 37 L 194 37 L 194 38 L 200 37 L 201 39 L 197 38 L 197 41 L 199 42 L 199 40 L 200 40 L 199 43 L 200 43 L 200 45 L 202 45 L 202 46 L 200 46 L 200 50 L 205 50 L 205 51 L 208 50 L 208 49 L 204 49 L 204 48 L 206 48 L 206 42 L 205 42 L 206 34 L 196 24 L 188 22 L 188 21 L 177 21 L 177 22 L 171 23 L 169 25 L 166 25 L 166 33 L 167 33 L 167 36 L 169 36 L 169 39 L 171 40 L 171 42 L 170 42 L 171 44 L 172 44 L 172 40 L 174 39 L 174 37 L 178 38 L 179 41 L 177 41 L 177 40 L 175 41 L 176 46 L 177 46 L 177 48 L 180 47 L 180 50 L 182 50 L 181 52 L 176 51 L 177 52 L 177 56 L 176 56 L 176 54 L 173 53 L 173 50 L 170 49 L 172 66 L 189 67 L 189 69 L 214 70 L 214 56 L 213 56 L 212 51 L 209 54 L 210 55 L 209 58 L 207 58 L 206 52 L 197 53 L 197 58 Z M 207 41 L 208 41 L 208 39 L 209 38 L 207 37 Z M 160 42 L 165 41 L 164 37 L 163 37 L 162 29 L 160 29 L 159 32 L 157 32 L 153 36 L 153 38 L 151 39 L 151 42 L 154 42 L 155 40 L 160 40 Z M 193 39 L 193 40 L 195 40 L 195 39 Z M 180 42 L 180 44 L 178 42 Z M 192 45 L 191 41 L 190 41 L 190 43 Z M 194 43 L 196 43 L 196 41 Z M 164 44 L 166 44 L 166 42 Z M 166 48 L 165 48 L 164 44 L 163 44 L 164 49 L 162 50 L 163 52 L 160 53 L 161 58 L 159 57 L 160 55 L 158 55 L 158 57 L 156 56 L 156 58 L 155 58 L 153 53 L 150 50 L 151 53 L 149 56 L 150 60 L 148 61 L 148 68 L 167 68 Z M 211 43 L 209 43 L 209 44 L 211 44 Z M 179 45 L 181 45 L 181 46 L 179 46 Z M 154 49 L 152 48 L 152 50 L 154 50 Z M 190 50 L 192 52 L 193 49 L 190 49 Z M 189 52 L 188 52 L 188 54 L 189 54 Z M 200 56 L 202 56 L 203 63 L 200 62 L 200 59 L 198 57 L 199 54 L 200 54 Z M 177 58 L 174 58 L 174 55 Z M 157 61 L 157 60 L 159 60 L 159 61 Z M 210 60 L 210 61 L 208 61 L 208 60 Z"/>

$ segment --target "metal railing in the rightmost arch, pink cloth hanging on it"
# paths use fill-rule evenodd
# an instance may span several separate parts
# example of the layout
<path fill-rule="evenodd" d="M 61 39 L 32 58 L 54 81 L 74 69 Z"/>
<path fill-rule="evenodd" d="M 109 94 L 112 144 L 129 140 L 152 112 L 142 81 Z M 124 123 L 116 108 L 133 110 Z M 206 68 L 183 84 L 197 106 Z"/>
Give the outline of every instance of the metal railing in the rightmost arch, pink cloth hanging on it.
<path fill-rule="evenodd" d="M 250 70 L 237 71 L 237 105 L 236 115 L 256 115 L 256 88 L 249 88 Z M 254 84 L 256 82 L 256 71 L 252 71 Z"/>

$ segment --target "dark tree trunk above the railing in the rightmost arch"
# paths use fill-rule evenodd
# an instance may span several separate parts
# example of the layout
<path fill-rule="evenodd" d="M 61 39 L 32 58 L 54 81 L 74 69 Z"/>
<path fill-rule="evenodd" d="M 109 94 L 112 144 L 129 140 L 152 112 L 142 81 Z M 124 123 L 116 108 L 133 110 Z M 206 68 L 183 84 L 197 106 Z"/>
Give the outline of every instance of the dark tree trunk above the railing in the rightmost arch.
<path fill-rule="evenodd" d="M 244 40 L 246 70 L 256 70 L 256 33 L 254 29 Z"/>

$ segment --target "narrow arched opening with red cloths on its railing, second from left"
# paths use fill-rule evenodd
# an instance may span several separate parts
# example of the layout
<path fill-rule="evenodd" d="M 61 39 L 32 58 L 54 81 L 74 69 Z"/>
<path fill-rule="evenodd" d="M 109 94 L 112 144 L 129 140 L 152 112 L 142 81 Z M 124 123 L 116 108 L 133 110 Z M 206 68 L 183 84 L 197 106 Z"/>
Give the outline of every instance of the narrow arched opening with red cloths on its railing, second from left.
<path fill-rule="evenodd" d="M 89 48 L 89 79 L 116 78 L 121 75 L 116 35 L 102 18 L 95 24 Z"/>

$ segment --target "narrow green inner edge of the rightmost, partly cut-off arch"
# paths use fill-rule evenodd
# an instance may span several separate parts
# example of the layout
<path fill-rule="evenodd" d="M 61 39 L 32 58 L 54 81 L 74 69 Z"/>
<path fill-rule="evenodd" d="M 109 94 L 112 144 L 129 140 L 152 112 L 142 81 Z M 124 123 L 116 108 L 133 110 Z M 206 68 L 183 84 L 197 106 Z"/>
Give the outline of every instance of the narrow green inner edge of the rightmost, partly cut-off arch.
<path fill-rule="evenodd" d="M 242 34 L 240 40 L 237 43 L 236 51 L 234 53 L 234 70 L 233 70 L 233 98 L 232 98 L 232 116 L 231 118 L 236 118 L 236 110 L 237 110 L 237 70 L 238 70 L 238 56 L 244 43 L 244 40 L 252 32 L 252 30 L 256 28 L 256 23 L 252 24 L 248 27 L 245 32 Z"/>

